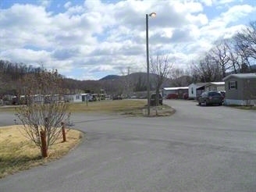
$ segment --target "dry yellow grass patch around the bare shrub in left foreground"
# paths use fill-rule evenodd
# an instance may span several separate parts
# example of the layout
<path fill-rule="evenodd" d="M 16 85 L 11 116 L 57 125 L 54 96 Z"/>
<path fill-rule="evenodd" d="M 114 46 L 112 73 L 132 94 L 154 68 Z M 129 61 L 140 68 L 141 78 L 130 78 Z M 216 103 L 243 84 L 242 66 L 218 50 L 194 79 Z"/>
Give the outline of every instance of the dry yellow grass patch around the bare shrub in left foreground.
<path fill-rule="evenodd" d="M 67 130 L 66 142 L 62 138 L 48 149 L 48 158 L 41 158 L 40 148 L 23 136 L 22 126 L 3 126 L 0 128 L 0 178 L 42 165 L 45 162 L 61 158 L 80 142 L 82 133 L 78 130 Z"/>

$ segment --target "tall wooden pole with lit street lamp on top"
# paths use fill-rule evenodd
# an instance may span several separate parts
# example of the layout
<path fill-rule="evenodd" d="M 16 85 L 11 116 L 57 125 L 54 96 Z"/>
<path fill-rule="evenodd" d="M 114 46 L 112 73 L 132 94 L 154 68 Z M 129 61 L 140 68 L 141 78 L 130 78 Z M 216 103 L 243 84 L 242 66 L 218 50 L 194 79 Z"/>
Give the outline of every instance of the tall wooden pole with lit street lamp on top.
<path fill-rule="evenodd" d="M 149 54 L 148 54 L 148 16 L 155 17 L 156 13 L 146 14 L 146 49 L 147 49 L 147 98 L 148 98 L 148 116 L 150 116 L 150 82 L 149 82 Z"/>

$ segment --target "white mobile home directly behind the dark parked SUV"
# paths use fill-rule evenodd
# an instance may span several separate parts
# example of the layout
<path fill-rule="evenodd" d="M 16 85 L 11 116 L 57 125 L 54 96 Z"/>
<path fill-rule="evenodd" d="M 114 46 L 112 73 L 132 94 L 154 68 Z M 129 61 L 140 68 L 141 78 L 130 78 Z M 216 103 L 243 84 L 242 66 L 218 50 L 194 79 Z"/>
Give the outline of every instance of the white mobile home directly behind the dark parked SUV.
<path fill-rule="evenodd" d="M 190 84 L 188 86 L 188 98 L 197 99 L 204 91 L 224 91 L 225 82 L 209 82 Z"/>

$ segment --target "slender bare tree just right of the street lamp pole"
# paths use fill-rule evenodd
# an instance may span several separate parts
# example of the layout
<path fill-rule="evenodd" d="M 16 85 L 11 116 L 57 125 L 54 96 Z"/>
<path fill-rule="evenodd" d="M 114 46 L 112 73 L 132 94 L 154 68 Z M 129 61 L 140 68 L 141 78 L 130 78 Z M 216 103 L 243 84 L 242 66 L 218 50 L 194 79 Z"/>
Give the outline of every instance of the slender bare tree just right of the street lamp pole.
<path fill-rule="evenodd" d="M 169 76 L 172 69 L 172 63 L 169 62 L 168 56 L 157 55 L 150 59 L 150 72 L 155 75 L 155 93 L 156 105 L 159 105 L 159 91 L 165 79 Z"/>

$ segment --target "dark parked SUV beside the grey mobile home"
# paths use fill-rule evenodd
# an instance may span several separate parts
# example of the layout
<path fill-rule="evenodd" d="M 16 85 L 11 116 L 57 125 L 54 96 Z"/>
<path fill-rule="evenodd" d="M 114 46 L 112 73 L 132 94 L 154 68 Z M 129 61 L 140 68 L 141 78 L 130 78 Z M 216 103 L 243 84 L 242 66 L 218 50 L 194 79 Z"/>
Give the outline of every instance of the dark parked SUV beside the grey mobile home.
<path fill-rule="evenodd" d="M 218 104 L 222 105 L 223 102 L 223 96 L 219 91 L 205 91 L 201 94 L 201 96 L 198 98 L 198 104 L 204 104 L 204 105 L 213 105 Z"/>

